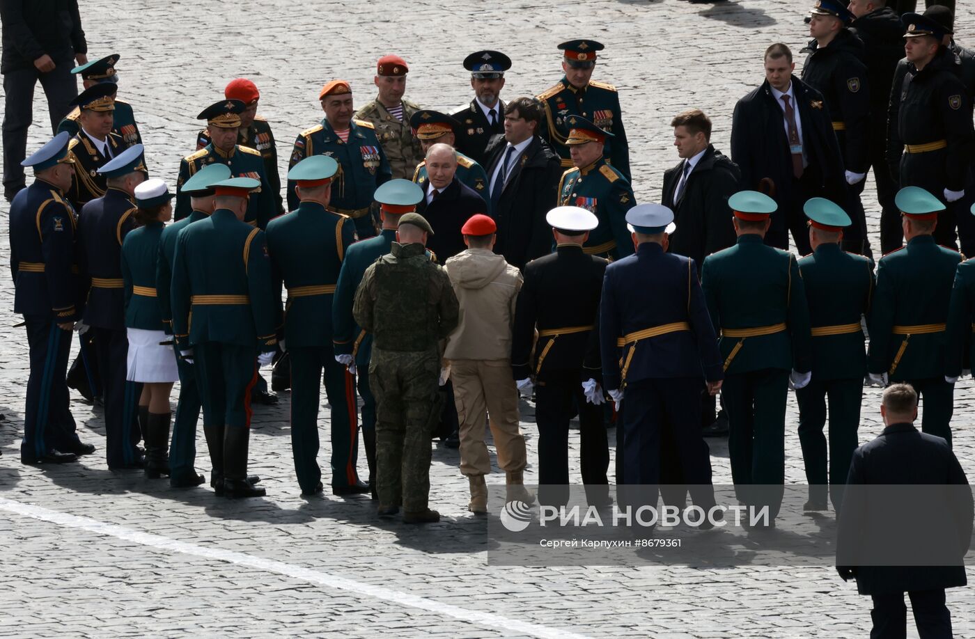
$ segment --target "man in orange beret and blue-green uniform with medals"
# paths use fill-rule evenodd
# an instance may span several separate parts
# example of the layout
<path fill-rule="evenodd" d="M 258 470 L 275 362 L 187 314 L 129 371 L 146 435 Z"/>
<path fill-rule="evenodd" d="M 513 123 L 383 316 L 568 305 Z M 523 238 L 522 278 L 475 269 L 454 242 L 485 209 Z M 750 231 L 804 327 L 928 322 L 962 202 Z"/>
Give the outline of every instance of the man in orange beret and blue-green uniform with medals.
<path fill-rule="evenodd" d="M 375 235 L 377 218 L 372 209 L 376 187 L 392 177 L 386 154 L 370 122 L 352 118 L 352 89 L 345 80 L 332 80 L 318 95 L 325 118 L 294 140 L 289 169 L 305 158 L 327 155 L 338 163 L 331 180 L 329 210 L 355 221 L 360 238 Z M 413 165 L 415 167 L 415 165 Z M 288 207 L 298 207 L 294 183 L 288 182 Z"/>

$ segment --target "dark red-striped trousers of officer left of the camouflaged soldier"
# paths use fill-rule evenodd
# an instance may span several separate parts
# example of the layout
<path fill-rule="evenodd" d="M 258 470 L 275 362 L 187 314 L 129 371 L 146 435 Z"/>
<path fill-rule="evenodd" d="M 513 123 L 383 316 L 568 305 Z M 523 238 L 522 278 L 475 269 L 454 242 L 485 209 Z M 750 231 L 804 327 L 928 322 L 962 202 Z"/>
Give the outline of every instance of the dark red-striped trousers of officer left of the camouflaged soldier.
<path fill-rule="evenodd" d="M 355 378 L 335 361 L 331 344 L 289 348 L 288 352 L 292 359 L 292 454 L 298 485 L 302 491 L 312 491 L 322 479 L 317 457 L 319 379 L 323 378 L 331 411 L 331 487 L 345 488 L 358 482 Z"/>

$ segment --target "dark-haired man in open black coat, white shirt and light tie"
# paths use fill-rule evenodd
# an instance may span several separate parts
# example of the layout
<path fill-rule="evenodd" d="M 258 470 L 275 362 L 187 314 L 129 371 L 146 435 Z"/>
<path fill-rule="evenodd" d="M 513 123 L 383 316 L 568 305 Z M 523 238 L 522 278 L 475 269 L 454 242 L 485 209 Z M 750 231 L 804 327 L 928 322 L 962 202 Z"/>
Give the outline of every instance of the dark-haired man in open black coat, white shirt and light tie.
<path fill-rule="evenodd" d="M 494 251 L 520 269 L 552 252 L 545 213 L 556 201 L 562 163 L 539 135 L 543 118 L 541 104 L 533 98 L 508 102 L 504 135 L 487 147 L 487 183 L 497 223 Z"/>

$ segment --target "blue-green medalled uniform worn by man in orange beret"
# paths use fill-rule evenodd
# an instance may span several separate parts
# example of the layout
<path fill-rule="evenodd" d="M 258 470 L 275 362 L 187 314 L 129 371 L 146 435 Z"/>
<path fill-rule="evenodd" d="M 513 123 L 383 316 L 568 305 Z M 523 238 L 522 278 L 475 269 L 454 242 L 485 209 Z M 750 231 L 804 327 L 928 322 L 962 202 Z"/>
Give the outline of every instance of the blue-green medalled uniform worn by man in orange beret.
<path fill-rule="evenodd" d="M 392 177 L 392 173 L 372 125 L 353 120 L 349 125 L 349 139 L 343 142 L 329 121 L 323 119 L 322 124 L 298 134 L 288 168 L 292 169 L 305 158 L 315 155 L 330 156 L 338 163 L 338 173 L 331 181 L 329 210 L 353 218 L 360 238 L 375 235 L 372 194 Z M 288 207 L 294 209 L 297 206 L 294 183 L 289 180 Z"/>

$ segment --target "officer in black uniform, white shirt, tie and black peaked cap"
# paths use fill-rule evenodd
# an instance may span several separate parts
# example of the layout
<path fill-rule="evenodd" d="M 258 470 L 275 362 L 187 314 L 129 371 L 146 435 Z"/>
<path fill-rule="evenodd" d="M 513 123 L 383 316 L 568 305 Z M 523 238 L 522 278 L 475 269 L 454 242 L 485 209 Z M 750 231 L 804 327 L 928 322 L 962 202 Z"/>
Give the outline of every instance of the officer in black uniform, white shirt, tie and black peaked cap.
<path fill-rule="evenodd" d="M 474 99 L 467 108 L 451 114 L 462 125 L 456 147 L 484 166 L 487 142 L 494 135 L 504 134 L 504 102 L 500 95 L 511 58 L 498 51 L 477 51 L 464 58 L 464 68 L 471 72 Z"/>

